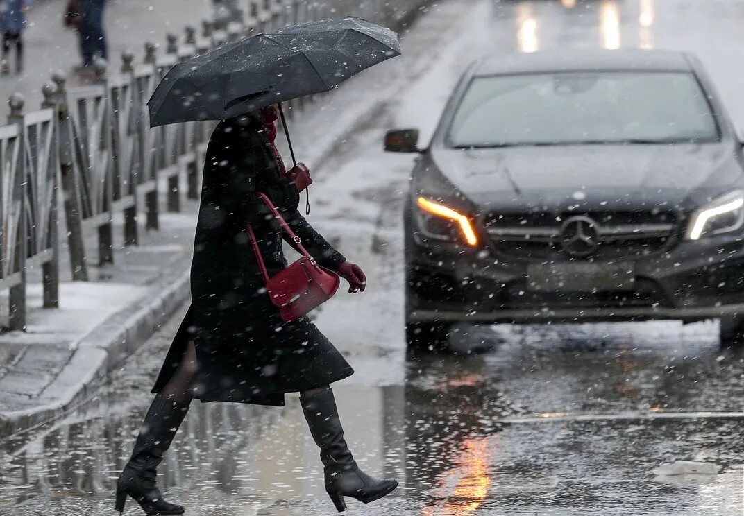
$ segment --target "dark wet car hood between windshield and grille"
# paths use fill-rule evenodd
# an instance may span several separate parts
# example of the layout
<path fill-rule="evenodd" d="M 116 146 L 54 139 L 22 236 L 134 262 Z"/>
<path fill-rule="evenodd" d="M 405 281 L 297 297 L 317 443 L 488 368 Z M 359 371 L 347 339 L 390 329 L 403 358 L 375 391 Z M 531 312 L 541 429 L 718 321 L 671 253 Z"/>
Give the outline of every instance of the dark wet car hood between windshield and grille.
<path fill-rule="evenodd" d="M 433 149 L 431 158 L 481 210 L 687 209 L 743 172 L 728 143 Z"/>

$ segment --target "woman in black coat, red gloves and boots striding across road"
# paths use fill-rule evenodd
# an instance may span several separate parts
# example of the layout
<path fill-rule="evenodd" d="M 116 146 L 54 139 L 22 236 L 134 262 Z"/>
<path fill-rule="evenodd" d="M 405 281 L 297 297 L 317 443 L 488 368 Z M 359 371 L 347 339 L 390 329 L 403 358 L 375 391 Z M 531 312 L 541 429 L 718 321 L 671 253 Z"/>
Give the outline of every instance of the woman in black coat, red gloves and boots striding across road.
<path fill-rule="evenodd" d="M 276 119 L 277 107 L 270 106 L 223 120 L 211 136 L 191 268 L 193 301 L 119 477 L 119 512 L 127 496 L 149 515 L 184 512 L 162 499 L 155 469 L 192 399 L 282 406 L 285 393 L 299 392 L 320 448 L 325 488 L 339 512 L 346 509 L 344 497 L 368 503 L 398 485 L 365 474 L 347 447 L 330 384 L 353 374 L 350 365 L 307 317 L 283 322 L 266 292 L 246 226 L 270 275 L 287 265 L 281 247 L 286 234 L 258 192 L 269 196 L 318 264 L 349 282 L 350 292 L 364 291 L 366 281 L 359 265 L 348 262 L 298 212 L 299 192 L 312 180 L 302 164 L 284 170 L 273 142 Z"/>

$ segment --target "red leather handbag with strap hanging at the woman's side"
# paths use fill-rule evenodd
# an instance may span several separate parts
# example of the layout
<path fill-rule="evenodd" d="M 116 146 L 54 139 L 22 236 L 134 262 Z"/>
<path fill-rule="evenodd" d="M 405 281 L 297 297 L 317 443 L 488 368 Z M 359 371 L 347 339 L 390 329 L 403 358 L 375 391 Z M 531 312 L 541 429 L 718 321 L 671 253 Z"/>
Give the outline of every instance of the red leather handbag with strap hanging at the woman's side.
<path fill-rule="evenodd" d="M 300 237 L 295 235 L 292 228 L 289 228 L 289 224 L 286 223 L 265 194 L 257 192 L 256 195 L 269 207 L 275 219 L 278 220 L 283 230 L 292 237 L 303 255 L 278 274 L 269 277 L 253 228 L 250 225 L 247 226 L 248 236 L 251 237 L 253 251 L 256 254 L 258 266 L 261 268 L 263 280 L 266 282 L 266 291 L 269 293 L 269 298 L 279 309 L 282 320 L 289 323 L 306 315 L 310 310 L 333 297 L 333 294 L 336 294 L 336 291 L 339 290 L 341 279 L 315 262 L 315 259 L 302 245 Z"/>

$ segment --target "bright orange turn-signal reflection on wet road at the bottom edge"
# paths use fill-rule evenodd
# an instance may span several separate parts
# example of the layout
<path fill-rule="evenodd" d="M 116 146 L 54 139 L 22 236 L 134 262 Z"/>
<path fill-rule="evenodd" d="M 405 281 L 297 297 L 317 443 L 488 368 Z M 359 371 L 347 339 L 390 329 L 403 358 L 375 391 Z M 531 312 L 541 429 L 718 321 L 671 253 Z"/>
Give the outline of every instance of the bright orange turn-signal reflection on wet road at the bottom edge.
<path fill-rule="evenodd" d="M 441 479 L 440 486 L 446 488 L 457 479 L 452 494 L 442 496 L 446 499 L 443 506 L 427 507 L 422 516 L 469 516 L 475 514 L 488 496 L 491 477 L 488 468 L 491 453 L 486 437 L 466 439 L 464 451 L 460 456 L 457 468 L 447 471 Z"/>

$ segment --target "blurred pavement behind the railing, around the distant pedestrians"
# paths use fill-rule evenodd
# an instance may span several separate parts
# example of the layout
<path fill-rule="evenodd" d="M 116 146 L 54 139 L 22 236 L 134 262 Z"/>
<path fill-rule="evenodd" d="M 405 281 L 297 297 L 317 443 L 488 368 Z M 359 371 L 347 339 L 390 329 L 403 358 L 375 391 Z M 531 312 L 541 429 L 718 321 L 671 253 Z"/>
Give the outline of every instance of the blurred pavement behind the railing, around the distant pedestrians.
<path fill-rule="evenodd" d="M 23 36 L 25 70 L 21 75 L 0 76 L 2 114 L 7 113 L 6 101 L 13 93 L 24 95 L 27 110 L 38 109 L 41 88 L 51 81 L 54 71 L 65 73 L 70 86 L 80 83 L 73 72 L 80 64 L 77 34 L 62 27 L 66 5 L 67 0 L 37 0 L 28 11 Z M 105 22 L 112 69 L 119 69 L 125 50 L 135 54 L 135 62 L 141 62 L 146 41 L 160 45 L 163 52 L 166 33 L 176 34 L 183 42 L 186 25 L 201 30 L 201 20 L 210 16 L 210 7 L 211 0 L 108 0 Z"/>

